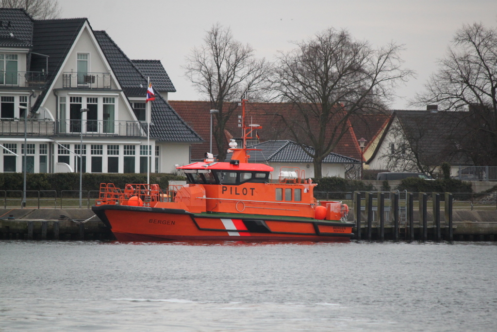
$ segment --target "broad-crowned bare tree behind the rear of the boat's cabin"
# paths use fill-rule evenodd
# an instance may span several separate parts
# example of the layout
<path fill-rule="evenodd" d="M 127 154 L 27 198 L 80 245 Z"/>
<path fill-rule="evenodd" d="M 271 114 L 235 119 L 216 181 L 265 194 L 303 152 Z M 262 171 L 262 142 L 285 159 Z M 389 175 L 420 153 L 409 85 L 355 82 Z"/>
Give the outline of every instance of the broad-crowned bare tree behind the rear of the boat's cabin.
<path fill-rule="evenodd" d="M 294 105 L 282 118 L 321 177 L 322 161 L 349 130 L 349 117 L 383 110 L 413 72 L 401 68 L 402 47 L 373 49 L 346 30 L 330 28 L 296 45 L 279 54 L 271 81 L 276 96 Z"/>

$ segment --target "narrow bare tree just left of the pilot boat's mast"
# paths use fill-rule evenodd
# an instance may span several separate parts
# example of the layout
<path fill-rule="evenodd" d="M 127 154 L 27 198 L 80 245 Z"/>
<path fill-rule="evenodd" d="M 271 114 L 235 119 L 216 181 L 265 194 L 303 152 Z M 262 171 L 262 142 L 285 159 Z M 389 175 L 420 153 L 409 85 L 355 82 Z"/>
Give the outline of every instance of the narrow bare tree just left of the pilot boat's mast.
<path fill-rule="evenodd" d="M 204 44 L 192 50 L 187 62 L 186 77 L 209 99 L 212 109 L 219 111 L 215 115 L 213 136 L 218 158 L 224 160 L 228 147 L 226 123 L 242 97 L 257 99 L 266 78 L 267 64 L 264 59 L 255 58 L 250 45 L 233 39 L 231 29 L 219 23 L 207 31 Z"/>

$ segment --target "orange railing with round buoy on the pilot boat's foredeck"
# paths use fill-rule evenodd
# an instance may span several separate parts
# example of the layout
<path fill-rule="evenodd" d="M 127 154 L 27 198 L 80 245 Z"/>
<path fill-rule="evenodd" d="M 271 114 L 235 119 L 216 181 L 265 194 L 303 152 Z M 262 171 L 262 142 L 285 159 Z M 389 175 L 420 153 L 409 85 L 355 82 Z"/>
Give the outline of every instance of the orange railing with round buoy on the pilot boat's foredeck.
<path fill-rule="evenodd" d="M 163 202 L 167 195 L 158 185 L 126 184 L 124 190 L 114 186 L 113 183 L 101 183 L 98 199 L 95 205 L 129 205 L 153 206 L 153 203 Z"/>

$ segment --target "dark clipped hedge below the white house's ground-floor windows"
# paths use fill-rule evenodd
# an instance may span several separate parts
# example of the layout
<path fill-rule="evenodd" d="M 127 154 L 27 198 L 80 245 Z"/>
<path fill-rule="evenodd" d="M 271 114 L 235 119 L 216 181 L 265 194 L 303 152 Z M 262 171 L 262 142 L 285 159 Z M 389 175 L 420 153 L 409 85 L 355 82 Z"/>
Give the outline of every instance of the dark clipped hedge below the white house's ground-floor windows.
<path fill-rule="evenodd" d="M 161 189 L 166 189 L 169 180 L 185 180 L 182 176 L 153 173 L 150 183 L 157 183 Z M 99 190 L 100 183 L 113 183 L 118 188 L 124 188 L 127 183 L 147 183 L 147 174 L 93 174 L 83 173 L 83 190 Z M 22 173 L 0 173 L 0 190 L 22 190 Z M 79 190 L 79 173 L 28 173 L 26 174 L 26 190 Z"/>

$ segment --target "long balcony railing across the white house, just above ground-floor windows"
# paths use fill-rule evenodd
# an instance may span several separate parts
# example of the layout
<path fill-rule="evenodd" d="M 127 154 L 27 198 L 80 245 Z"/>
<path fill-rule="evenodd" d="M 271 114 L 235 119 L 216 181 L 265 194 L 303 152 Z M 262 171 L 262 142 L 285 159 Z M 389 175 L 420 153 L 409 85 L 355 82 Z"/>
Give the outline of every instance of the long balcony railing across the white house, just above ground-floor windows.
<path fill-rule="evenodd" d="M 146 127 L 136 121 L 115 120 L 57 120 L 44 121 L 28 119 L 26 132 L 28 136 L 83 136 L 107 137 L 146 137 Z M 24 135 L 24 120 L 0 120 L 0 135 Z"/>

